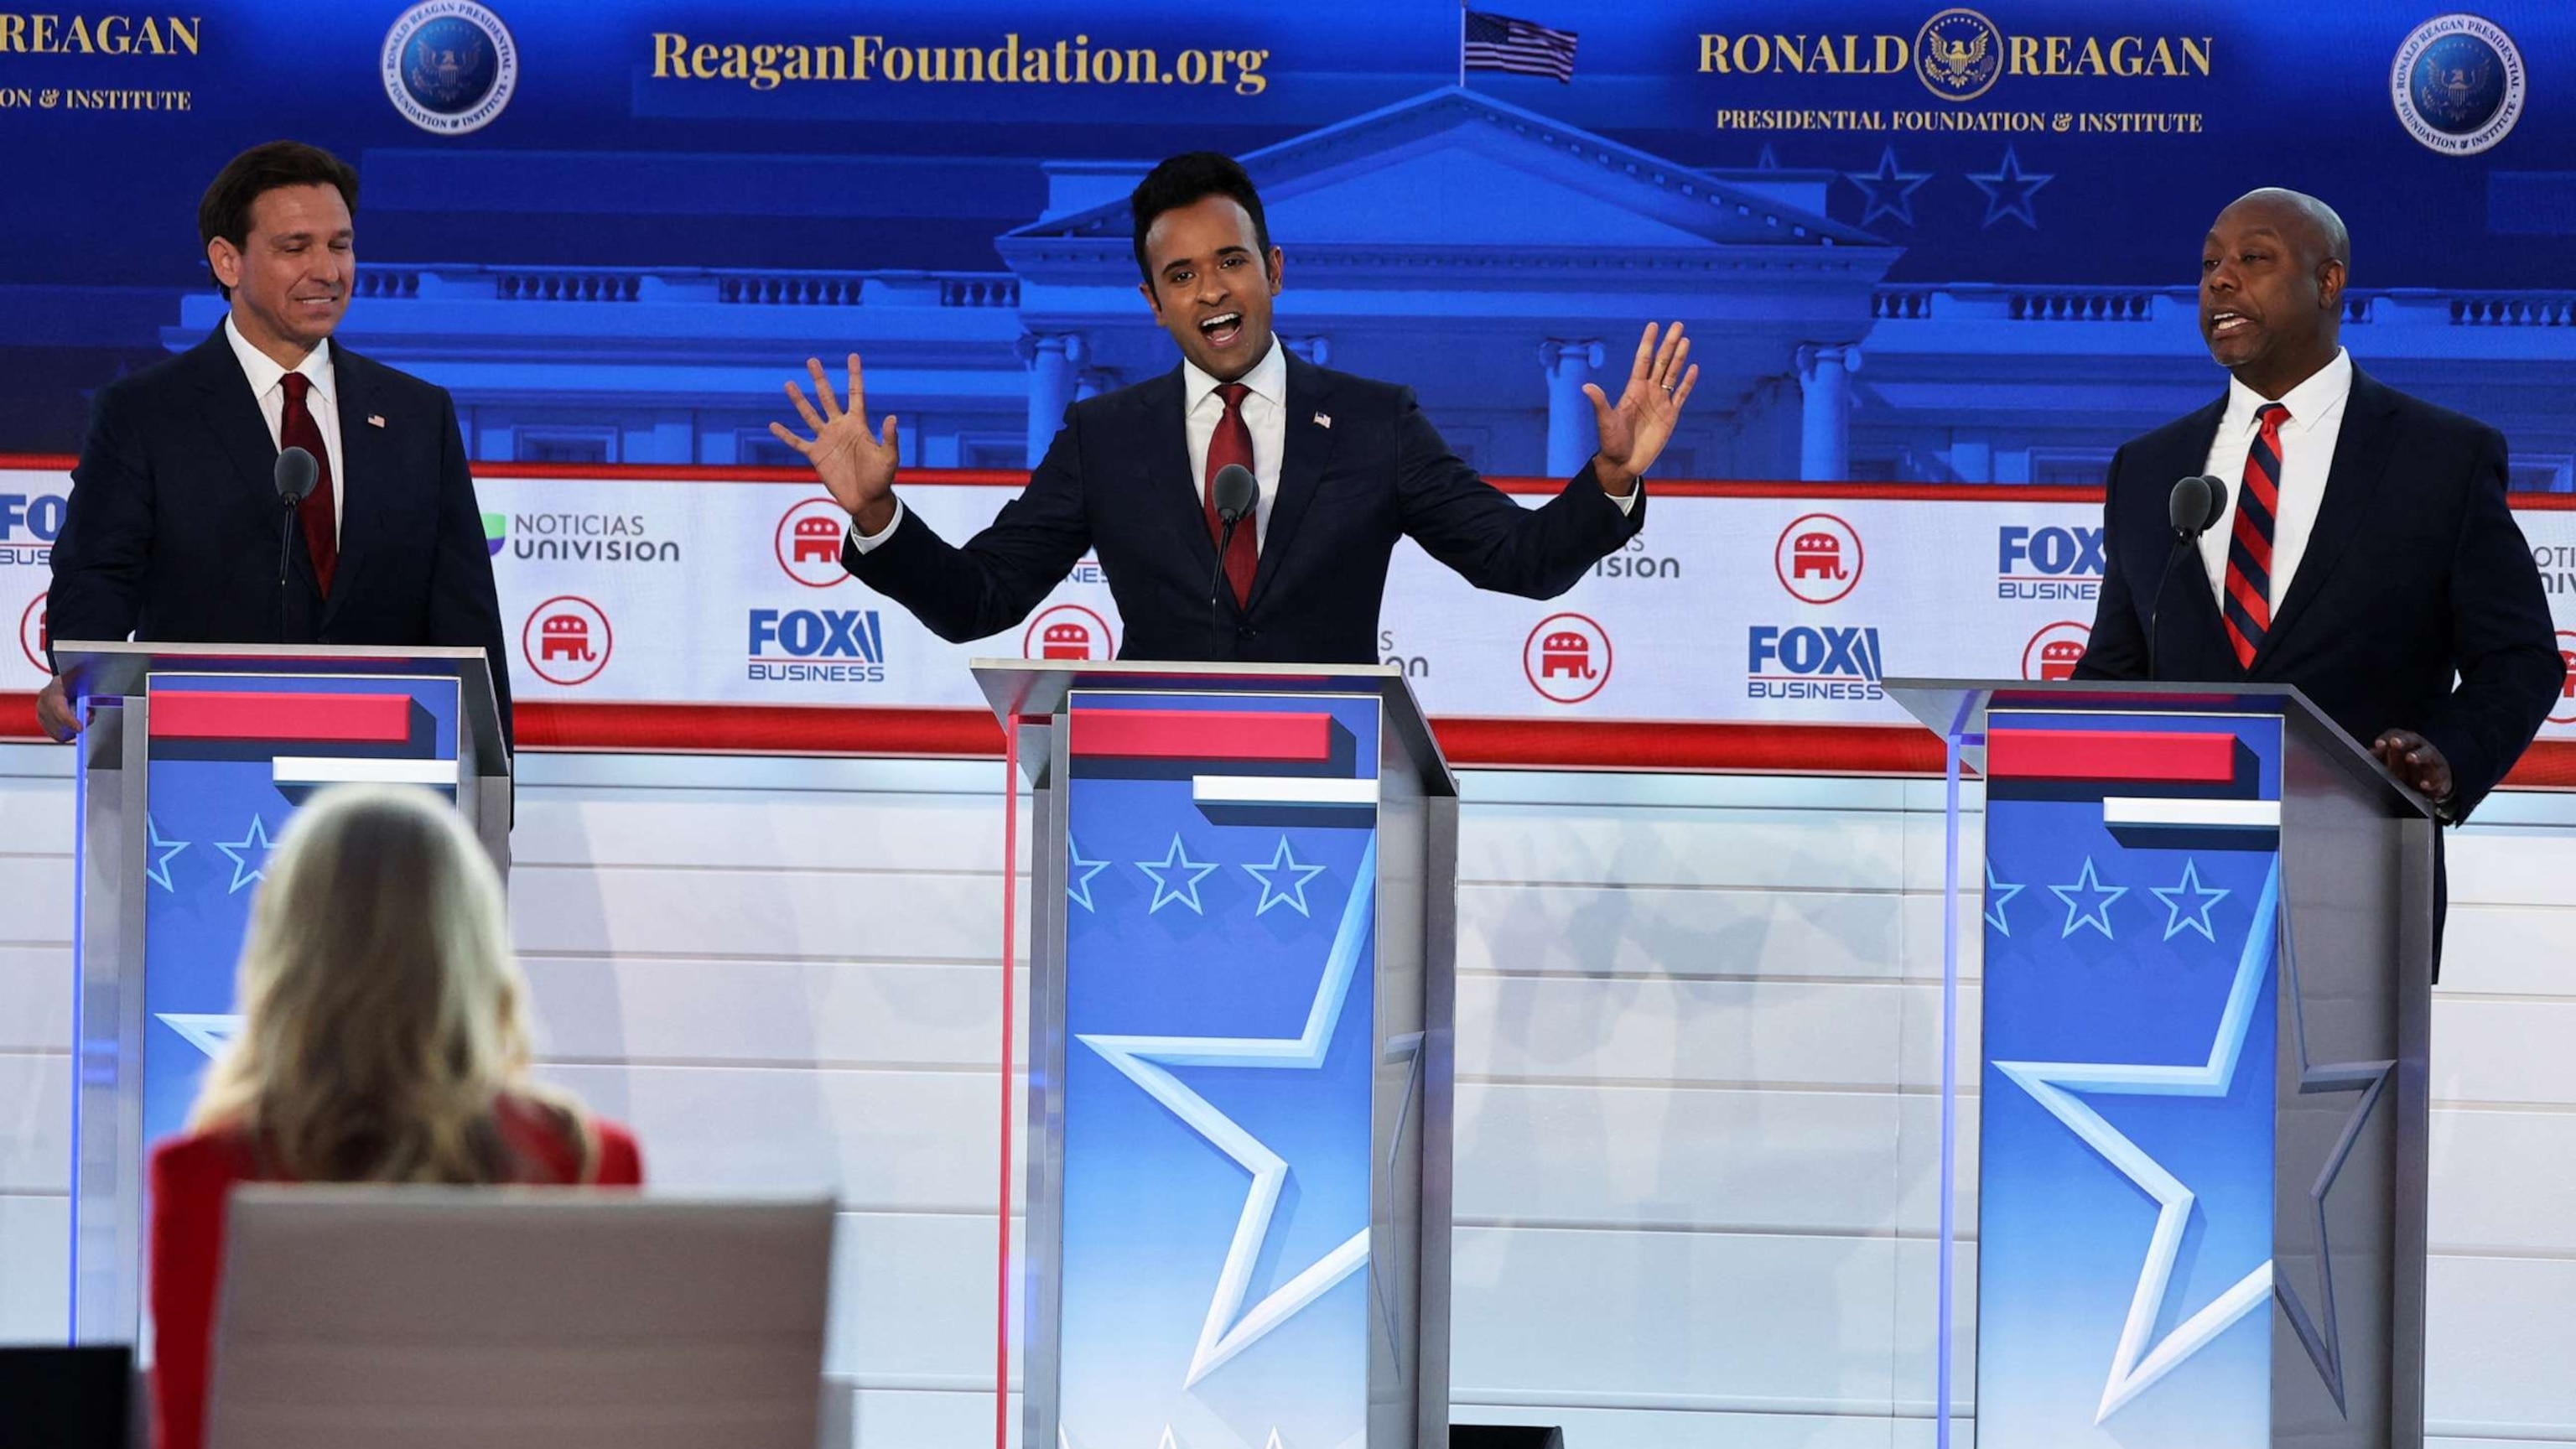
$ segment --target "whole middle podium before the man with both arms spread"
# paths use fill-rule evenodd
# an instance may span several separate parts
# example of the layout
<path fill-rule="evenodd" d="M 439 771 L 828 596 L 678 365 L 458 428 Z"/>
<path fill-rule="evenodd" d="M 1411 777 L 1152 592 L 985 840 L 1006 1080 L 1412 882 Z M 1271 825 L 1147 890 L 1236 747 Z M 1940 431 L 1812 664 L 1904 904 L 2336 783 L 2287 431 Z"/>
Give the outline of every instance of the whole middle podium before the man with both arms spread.
<path fill-rule="evenodd" d="M 1458 792 L 1401 673 L 974 673 L 1036 797 L 1023 1444 L 1445 1446 Z"/>

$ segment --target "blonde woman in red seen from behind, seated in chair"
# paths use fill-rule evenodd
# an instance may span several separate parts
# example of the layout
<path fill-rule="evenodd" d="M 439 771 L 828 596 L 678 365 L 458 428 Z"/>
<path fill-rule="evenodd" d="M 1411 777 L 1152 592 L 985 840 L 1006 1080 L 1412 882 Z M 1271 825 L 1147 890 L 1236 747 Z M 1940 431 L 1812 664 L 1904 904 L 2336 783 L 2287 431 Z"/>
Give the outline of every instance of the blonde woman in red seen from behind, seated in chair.
<path fill-rule="evenodd" d="M 242 1026 L 188 1134 L 152 1152 L 152 1423 L 198 1449 L 224 1199 L 240 1181 L 644 1178 L 634 1137 L 528 1073 L 528 985 L 500 879 L 417 789 L 307 804 L 250 908 Z"/>

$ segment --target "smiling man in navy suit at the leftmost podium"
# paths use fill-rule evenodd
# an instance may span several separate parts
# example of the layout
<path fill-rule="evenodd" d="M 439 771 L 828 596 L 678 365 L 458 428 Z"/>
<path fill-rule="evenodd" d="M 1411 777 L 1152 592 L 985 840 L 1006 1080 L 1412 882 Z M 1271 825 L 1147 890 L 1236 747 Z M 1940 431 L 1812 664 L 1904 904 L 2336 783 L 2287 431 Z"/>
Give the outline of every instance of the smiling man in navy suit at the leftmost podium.
<path fill-rule="evenodd" d="M 108 384 L 54 539 L 46 634 L 219 645 L 474 645 L 502 730 L 510 670 L 492 554 L 440 387 L 330 340 L 358 281 L 358 173 L 268 142 L 196 211 L 232 315 L 204 343 Z M 278 454 L 319 464 L 278 583 Z M 44 730 L 80 730 L 62 678 Z"/>

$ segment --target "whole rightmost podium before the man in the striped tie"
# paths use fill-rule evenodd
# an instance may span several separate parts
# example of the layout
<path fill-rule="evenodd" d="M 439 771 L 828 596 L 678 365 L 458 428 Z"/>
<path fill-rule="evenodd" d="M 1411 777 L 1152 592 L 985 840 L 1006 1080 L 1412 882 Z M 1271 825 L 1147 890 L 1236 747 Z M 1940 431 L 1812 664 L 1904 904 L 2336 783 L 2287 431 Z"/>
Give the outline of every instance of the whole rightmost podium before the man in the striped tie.
<path fill-rule="evenodd" d="M 2295 688 L 1886 688 L 1950 743 L 1950 1003 L 1984 915 L 1978 1449 L 2421 1444 L 2424 802 Z"/>

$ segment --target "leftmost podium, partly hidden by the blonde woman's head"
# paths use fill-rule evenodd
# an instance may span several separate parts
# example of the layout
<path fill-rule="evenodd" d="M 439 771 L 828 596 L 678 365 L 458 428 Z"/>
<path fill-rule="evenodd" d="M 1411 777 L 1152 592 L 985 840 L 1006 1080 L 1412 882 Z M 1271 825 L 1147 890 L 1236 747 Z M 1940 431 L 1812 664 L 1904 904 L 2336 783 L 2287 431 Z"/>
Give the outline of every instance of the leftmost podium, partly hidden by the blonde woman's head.
<path fill-rule="evenodd" d="M 443 789 L 510 859 L 482 650 L 59 642 L 77 740 L 72 1338 L 139 1343 L 144 1155 L 232 1039 L 252 887 L 325 784 Z"/>

